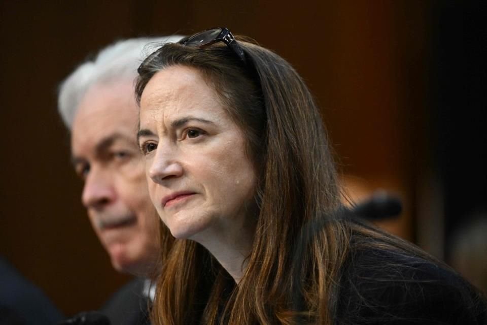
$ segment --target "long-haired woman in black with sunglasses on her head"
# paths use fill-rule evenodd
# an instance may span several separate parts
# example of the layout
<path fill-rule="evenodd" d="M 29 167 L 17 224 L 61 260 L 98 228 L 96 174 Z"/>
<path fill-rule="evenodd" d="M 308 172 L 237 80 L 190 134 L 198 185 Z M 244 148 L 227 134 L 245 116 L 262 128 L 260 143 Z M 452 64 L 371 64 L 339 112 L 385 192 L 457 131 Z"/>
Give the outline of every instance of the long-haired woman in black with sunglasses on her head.
<path fill-rule="evenodd" d="M 485 320 L 453 271 L 340 209 L 319 110 L 283 58 L 216 28 L 138 71 L 149 192 L 177 238 L 156 324 Z"/>

